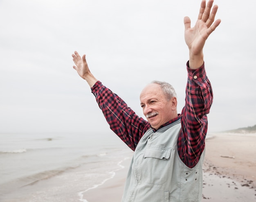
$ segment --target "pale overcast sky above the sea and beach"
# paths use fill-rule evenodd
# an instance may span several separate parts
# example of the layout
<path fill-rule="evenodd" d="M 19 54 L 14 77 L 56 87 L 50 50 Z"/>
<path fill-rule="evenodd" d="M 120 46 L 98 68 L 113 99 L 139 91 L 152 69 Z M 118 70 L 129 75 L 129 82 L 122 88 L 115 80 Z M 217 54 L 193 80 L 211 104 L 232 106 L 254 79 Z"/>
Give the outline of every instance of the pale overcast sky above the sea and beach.
<path fill-rule="evenodd" d="M 173 85 L 181 112 L 189 58 L 183 18 L 193 26 L 200 2 L 0 0 L 0 133 L 109 130 L 72 68 L 74 50 L 139 116 L 139 94 L 152 80 Z M 222 22 L 204 47 L 214 93 L 209 132 L 256 124 L 256 3 L 215 4 Z"/>

